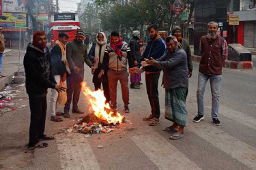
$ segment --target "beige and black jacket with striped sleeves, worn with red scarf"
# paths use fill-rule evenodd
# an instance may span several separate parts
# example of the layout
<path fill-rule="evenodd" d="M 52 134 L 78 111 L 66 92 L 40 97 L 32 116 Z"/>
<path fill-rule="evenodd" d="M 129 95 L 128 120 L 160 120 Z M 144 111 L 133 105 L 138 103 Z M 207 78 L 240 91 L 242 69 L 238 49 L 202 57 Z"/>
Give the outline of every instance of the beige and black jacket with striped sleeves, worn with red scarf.
<path fill-rule="evenodd" d="M 123 41 L 121 52 L 122 58 L 119 60 L 117 53 L 111 48 L 111 44 L 106 46 L 103 59 L 104 71 L 106 71 L 106 66 L 115 71 L 127 71 L 127 64 L 129 68 L 133 67 L 134 58 L 130 56 L 130 48 L 125 41 Z"/>

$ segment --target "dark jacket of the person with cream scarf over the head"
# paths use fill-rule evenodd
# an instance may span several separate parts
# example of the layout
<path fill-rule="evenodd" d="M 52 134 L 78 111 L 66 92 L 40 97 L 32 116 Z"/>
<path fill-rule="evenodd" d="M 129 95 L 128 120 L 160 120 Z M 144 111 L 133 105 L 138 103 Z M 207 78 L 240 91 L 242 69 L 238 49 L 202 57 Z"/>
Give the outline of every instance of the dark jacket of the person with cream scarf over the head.
<path fill-rule="evenodd" d="M 96 48 L 96 43 L 92 44 L 91 50 L 89 51 L 89 54 L 88 54 L 91 63 L 94 63 L 95 48 Z M 100 46 L 100 52 L 101 52 L 101 50 L 105 50 L 105 49 L 102 49 L 102 46 Z M 99 54 L 100 54 L 100 52 L 99 52 Z M 98 60 L 100 60 L 100 58 L 98 58 Z M 103 58 L 103 60 L 104 60 L 104 58 Z M 104 64 L 105 64 L 105 67 L 103 67 L 103 62 L 102 63 L 100 63 L 100 62 L 98 63 L 98 68 L 94 71 L 94 77 L 92 78 L 92 82 L 93 83 L 96 83 L 96 82 L 108 82 L 107 72 L 108 72 L 109 68 L 107 67 L 106 63 L 104 63 Z M 106 69 L 104 71 L 104 74 L 102 75 L 101 78 L 98 78 L 98 74 L 104 68 Z"/>

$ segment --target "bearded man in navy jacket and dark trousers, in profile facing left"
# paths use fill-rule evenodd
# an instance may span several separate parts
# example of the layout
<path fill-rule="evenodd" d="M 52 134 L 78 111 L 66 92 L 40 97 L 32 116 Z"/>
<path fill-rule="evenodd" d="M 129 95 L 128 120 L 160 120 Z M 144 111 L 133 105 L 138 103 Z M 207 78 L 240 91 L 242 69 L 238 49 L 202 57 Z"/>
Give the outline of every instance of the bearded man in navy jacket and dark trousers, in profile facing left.
<path fill-rule="evenodd" d="M 150 41 L 147 43 L 147 47 L 141 56 L 138 67 L 141 67 L 141 61 L 144 61 L 144 58 L 160 58 L 166 51 L 165 41 L 160 37 L 158 33 L 158 27 L 156 24 L 150 24 L 147 28 L 150 34 Z M 145 81 L 147 86 L 147 96 L 150 101 L 151 112 L 152 114 L 147 118 L 143 118 L 144 121 L 150 121 L 150 126 L 155 126 L 160 123 L 160 105 L 158 97 L 158 80 L 160 72 L 162 69 L 159 69 L 154 66 L 147 66 L 137 69 L 135 72 L 143 73 L 145 71 Z"/>

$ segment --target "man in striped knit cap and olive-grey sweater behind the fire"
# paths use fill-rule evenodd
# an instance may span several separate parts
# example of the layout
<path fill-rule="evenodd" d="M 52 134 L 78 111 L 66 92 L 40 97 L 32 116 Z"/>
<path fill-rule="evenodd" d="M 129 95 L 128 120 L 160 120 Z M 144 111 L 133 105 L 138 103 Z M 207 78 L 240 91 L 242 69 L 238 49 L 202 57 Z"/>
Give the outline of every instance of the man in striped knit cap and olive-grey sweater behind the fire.
<path fill-rule="evenodd" d="M 87 47 L 83 44 L 85 39 L 85 32 L 81 29 L 76 31 L 75 39 L 66 45 L 66 57 L 70 66 L 70 74 L 67 75 L 67 103 L 64 107 L 64 117 L 70 118 L 70 103 L 73 96 L 72 112 L 76 114 L 83 114 L 77 106 L 79 103 L 79 96 L 81 92 L 81 82 L 83 82 L 84 62 L 91 67 L 94 73 L 94 67 L 89 61 L 87 54 Z"/>

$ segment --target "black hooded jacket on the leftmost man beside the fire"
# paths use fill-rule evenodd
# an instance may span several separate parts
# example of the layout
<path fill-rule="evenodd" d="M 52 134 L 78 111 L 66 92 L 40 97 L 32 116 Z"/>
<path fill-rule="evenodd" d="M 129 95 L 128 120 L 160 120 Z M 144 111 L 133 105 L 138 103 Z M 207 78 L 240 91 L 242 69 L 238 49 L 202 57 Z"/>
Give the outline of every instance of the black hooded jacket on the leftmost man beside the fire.
<path fill-rule="evenodd" d="M 48 48 L 42 51 L 29 44 L 23 65 L 27 94 L 31 97 L 46 97 L 47 88 L 55 88 L 57 84 L 52 73 L 51 54 Z"/>

